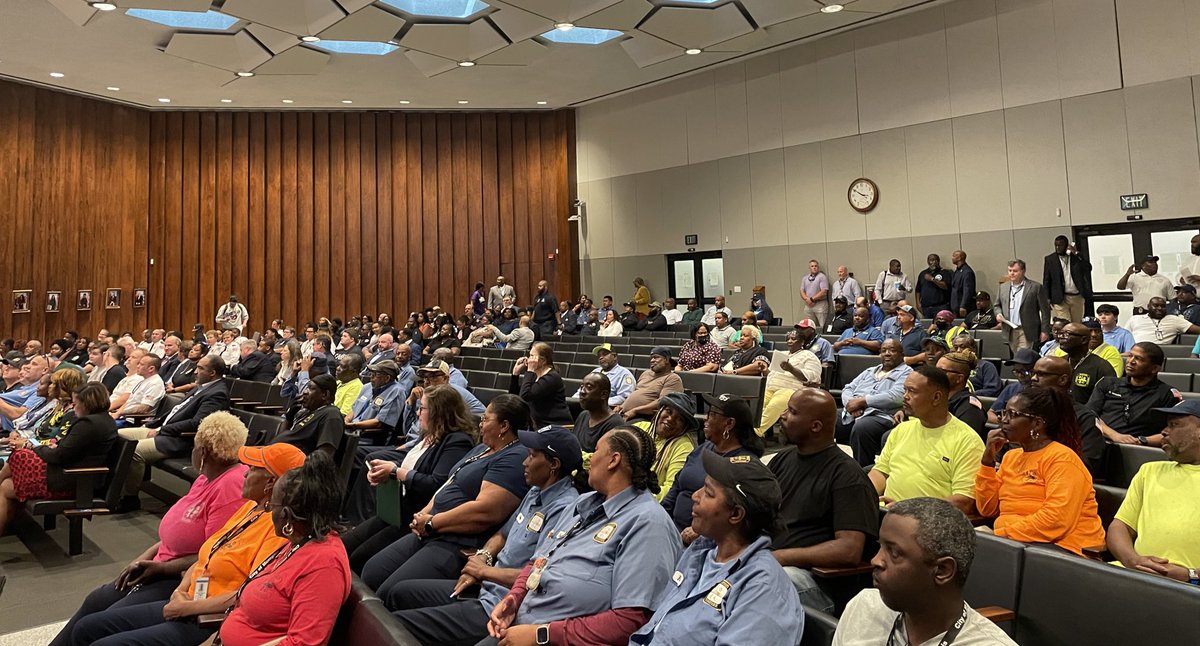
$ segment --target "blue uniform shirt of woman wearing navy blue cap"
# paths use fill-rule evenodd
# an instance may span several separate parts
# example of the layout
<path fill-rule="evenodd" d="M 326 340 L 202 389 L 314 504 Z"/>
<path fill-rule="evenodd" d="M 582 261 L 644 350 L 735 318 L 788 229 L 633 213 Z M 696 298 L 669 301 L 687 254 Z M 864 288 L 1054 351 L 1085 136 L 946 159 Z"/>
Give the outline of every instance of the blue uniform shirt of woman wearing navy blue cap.
<path fill-rule="evenodd" d="M 569 477 L 559 478 L 545 490 L 529 488 L 521 506 L 500 530 L 504 534 L 504 548 L 496 555 L 496 567 L 523 568 L 533 558 L 541 537 L 558 525 L 559 519 L 578 497 L 580 492 L 575 490 L 575 484 Z M 484 581 L 479 588 L 479 603 L 484 604 L 484 612 L 491 615 L 496 604 L 508 593 L 509 588 Z"/>

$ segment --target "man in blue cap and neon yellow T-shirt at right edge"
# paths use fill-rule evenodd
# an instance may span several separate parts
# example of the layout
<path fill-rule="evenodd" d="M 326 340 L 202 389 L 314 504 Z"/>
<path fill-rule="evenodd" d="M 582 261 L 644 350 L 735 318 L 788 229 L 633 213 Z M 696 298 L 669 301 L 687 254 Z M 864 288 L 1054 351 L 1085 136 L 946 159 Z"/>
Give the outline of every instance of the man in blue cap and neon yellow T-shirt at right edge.
<path fill-rule="evenodd" d="M 1187 400 L 1166 415 L 1166 460 L 1138 469 L 1109 525 L 1108 548 L 1127 568 L 1200 585 L 1200 401 Z"/>

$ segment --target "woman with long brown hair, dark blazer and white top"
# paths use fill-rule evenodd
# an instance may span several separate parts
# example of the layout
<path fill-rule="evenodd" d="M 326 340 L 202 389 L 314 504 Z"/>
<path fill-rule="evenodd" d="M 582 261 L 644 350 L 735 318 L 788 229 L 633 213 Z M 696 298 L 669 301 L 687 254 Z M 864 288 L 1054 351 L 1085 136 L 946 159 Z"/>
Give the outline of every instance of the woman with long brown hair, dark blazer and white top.
<path fill-rule="evenodd" d="M 467 413 L 467 403 L 452 387 L 434 385 L 425 390 L 420 406 L 421 436 L 398 449 L 367 453 L 366 463 L 370 468 L 364 478 L 350 485 L 344 514 L 352 521 L 359 521 L 359 525 L 347 532 L 342 543 L 350 555 L 350 568 L 354 572 L 362 572 L 367 560 L 408 533 L 413 514 L 428 504 L 433 494 L 450 477 L 450 469 L 475 445 L 472 435 L 475 429 Z M 517 417 L 527 420 L 529 414 L 523 402 L 521 409 L 524 414 Z M 502 424 L 514 424 L 499 397 L 492 401 L 487 412 L 503 418 Z M 376 515 L 374 488 L 388 480 L 403 483 L 398 525 L 389 525 Z"/>

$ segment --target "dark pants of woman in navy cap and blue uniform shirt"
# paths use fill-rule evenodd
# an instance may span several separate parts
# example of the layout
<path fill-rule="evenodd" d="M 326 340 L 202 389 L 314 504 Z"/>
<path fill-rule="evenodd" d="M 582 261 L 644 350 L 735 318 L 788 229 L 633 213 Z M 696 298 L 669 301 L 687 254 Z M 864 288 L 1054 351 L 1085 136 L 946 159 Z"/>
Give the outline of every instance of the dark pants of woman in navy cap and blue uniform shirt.
<path fill-rule="evenodd" d="M 455 580 L 408 581 L 394 596 L 396 616 L 421 644 L 470 646 L 487 636 L 479 599 L 451 599 Z"/>

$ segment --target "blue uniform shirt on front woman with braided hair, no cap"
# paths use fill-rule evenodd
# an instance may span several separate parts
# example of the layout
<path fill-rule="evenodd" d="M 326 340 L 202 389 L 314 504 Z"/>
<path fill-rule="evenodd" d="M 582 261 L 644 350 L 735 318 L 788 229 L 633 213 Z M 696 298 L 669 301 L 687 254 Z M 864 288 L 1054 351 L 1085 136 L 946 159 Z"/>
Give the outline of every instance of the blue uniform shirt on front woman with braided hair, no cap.
<path fill-rule="evenodd" d="M 679 531 L 653 494 L 632 486 L 608 500 L 599 491 L 584 494 L 538 544 L 534 558 L 547 561 L 514 624 L 616 608 L 653 610 L 682 548 Z"/>

